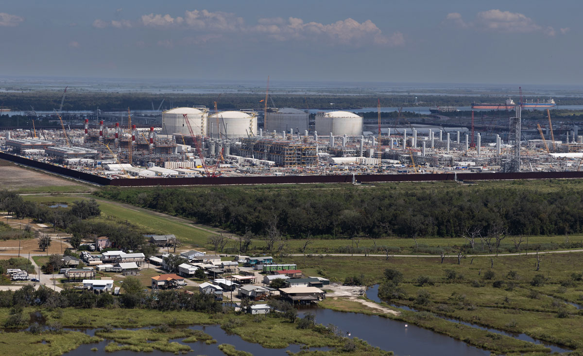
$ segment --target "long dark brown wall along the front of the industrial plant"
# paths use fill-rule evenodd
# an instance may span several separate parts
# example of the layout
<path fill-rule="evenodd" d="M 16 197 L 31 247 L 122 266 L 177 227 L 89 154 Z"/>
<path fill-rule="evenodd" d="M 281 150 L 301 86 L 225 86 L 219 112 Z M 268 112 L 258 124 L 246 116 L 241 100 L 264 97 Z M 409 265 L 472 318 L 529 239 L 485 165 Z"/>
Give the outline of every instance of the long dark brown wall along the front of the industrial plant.
<path fill-rule="evenodd" d="M 350 183 L 352 174 L 343 175 L 287 175 L 265 177 L 195 177 L 195 178 L 118 178 L 109 179 L 71 170 L 59 165 L 30 160 L 13 154 L 0 152 L 0 158 L 54 172 L 67 177 L 82 179 L 100 185 L 113 186 L 181 186 L 181 185 L 240 185 L 240 184 L 305 184 L 305 183 Z M 431 182 L 453 181 L 453 173 L 446 174 L 360 174 L 361 182 Z M 520 173 L 458 173 L 463 181 L 493 181 L 508 179 L 572 179 L 583 178 L 582 172 L 520 172 Z"/>

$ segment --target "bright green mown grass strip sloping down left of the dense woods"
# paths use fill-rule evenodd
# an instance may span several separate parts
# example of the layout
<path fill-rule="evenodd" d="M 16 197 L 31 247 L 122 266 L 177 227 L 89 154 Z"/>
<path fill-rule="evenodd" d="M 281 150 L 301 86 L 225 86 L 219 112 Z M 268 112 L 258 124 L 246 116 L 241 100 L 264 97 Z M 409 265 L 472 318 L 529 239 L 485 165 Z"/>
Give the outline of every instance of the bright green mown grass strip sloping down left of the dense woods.
<path fill-rule="evenodd" d="M 72 204 L 75 200 L 89 199 L 89 196 L 66 196 L 66 195 L 27 195 L 26 200 L 40 203 L 65 203 Z M 153 231 L 158 234 L 174 234 L 182 244 L 193 247 L 205 246 L 207 238 L 212 232 L 197 228 L 192 224 L 185 224 L 172 217 L 163 216 L 145 209 L 131 209 L 108 202 L 106 199 L 96 199 L 99 203 L 101 213 L 104 216 L 112 216 L 120 221 L 129 221 L 146 231 Z"/>

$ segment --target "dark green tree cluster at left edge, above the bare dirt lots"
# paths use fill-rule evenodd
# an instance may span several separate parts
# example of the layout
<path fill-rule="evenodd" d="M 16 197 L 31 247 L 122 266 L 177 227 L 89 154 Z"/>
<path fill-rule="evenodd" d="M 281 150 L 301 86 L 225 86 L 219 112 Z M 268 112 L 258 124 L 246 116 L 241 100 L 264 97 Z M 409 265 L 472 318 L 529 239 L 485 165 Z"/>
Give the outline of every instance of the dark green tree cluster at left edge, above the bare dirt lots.
<path fill-rule="evenodd" d="M 37 202 L 26 201 L 17 193 L 9 191 L 0 191 L 0 210 L 12 214 L 16 218 L 30 217 L 61 229 L 101 214 L 99 205 L 94 199 L 73 202 L 70 209 L 55 209 Z"/>

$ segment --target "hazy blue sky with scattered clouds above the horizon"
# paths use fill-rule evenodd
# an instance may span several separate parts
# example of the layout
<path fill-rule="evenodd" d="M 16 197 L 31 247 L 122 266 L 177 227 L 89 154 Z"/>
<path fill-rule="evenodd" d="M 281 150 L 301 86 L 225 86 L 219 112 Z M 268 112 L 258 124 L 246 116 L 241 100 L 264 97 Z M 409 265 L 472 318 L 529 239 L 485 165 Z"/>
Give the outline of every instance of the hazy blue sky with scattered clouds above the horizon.
<path fill-rule="evenodd" d="M 580 84 L 581 0 L 0 1 L 0 76 Z"/>

